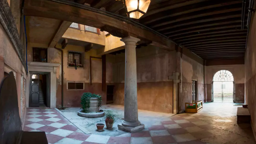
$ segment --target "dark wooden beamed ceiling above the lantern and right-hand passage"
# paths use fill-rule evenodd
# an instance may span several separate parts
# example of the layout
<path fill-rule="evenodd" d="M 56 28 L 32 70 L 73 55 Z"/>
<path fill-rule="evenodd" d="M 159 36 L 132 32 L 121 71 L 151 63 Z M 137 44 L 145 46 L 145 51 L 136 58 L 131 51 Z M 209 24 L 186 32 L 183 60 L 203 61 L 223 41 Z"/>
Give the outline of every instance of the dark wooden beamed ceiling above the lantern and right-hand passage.
<path fill-rule="evenodd" d="M 126 16 L 122 0 L 70 0 Z M 152 0 L 138 22 L 166 35 L 203 59 L 243 58 L 247 13 L 242 0 Z M 248 2 L 246 3 L 248 9 Z M 246 10 L 247 12 L 247 10 Z"/>

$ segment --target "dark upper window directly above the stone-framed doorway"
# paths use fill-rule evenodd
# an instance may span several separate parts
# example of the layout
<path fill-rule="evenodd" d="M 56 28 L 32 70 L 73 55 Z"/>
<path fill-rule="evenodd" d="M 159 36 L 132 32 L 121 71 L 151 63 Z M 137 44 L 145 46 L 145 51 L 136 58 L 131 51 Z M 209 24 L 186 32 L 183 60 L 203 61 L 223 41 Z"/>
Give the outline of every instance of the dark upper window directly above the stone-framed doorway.
<path fill-rule="evenodd" d="M 47 49 L 46 48 L 33 48 L 33 61 L 47 62 Z"/>

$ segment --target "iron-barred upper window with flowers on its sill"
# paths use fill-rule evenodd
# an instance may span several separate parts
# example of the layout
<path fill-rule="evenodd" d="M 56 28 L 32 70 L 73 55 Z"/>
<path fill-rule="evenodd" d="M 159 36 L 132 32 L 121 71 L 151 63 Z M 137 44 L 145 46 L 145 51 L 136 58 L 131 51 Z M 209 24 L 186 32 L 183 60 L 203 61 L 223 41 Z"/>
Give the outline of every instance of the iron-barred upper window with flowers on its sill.
<path fill-rule="evenodd" d="M 83 67 L 82 54 L 76 52 L 69 52 L 69 67 Z"/>

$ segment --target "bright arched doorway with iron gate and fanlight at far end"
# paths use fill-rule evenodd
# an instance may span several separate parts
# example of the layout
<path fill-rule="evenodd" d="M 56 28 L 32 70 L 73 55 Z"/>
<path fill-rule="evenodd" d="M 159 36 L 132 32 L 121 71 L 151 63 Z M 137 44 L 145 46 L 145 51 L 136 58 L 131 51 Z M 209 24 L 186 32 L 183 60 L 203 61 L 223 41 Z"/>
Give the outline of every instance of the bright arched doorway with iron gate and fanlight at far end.
<path fill-rule="evenodd" d="M 230 71 L 220 70 L 213 76 L 213 102 L 233 102 L 234 78 Z"/>

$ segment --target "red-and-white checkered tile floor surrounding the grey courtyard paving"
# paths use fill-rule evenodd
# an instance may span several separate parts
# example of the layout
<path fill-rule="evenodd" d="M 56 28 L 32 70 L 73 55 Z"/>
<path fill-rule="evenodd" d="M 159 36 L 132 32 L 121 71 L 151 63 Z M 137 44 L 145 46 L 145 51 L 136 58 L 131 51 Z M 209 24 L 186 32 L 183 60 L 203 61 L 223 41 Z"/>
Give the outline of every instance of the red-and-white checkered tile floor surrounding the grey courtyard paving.
<path fill-rule="evenodd" d="M 24 131 L 45 131 L 50 144 L 255 144 L 250 124 L 236 123 L 236 110 L 234 103 L 204 103 L 198 113 L 163 118 L 137 133 L 109 136 L 85 134 L 55 109 L 29 108 Z"/>

